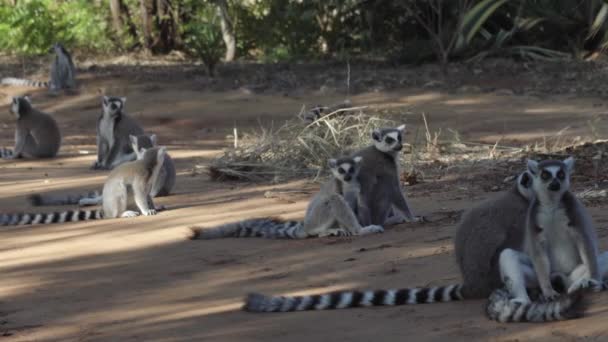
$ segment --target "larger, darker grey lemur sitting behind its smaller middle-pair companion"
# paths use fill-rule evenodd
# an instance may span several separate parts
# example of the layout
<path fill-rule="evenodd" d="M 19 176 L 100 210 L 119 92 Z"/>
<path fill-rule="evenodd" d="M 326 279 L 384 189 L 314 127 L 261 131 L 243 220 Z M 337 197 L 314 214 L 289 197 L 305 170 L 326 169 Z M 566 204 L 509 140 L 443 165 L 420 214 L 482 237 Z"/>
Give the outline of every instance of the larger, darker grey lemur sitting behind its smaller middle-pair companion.
<path fill-rule="evenodd" d="M 356 152 L 363 157 L 359 172 L 361 225 L 387 224 L 391 212 L 397 216 L 391 223 L 419 221 L 410 210 L 399 181 L 399 153 L 405 125 L 372 132 L 374 145 Z"/>

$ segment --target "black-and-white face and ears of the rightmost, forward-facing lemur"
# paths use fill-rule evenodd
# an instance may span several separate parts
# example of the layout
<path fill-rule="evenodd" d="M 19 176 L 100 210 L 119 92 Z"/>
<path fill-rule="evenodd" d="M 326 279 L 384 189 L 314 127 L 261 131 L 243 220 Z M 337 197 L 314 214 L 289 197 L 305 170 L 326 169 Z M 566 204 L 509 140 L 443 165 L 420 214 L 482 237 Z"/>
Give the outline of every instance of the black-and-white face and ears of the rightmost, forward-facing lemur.
<path fill-rule="evenodd" d="M 572 157 L 564 161 L 528 160 L 528 171 L 532 175 L 532 189 L 539 197 L 560 197 L 570 189 L 570 175 L 573 167 L 574 159 Z"/>

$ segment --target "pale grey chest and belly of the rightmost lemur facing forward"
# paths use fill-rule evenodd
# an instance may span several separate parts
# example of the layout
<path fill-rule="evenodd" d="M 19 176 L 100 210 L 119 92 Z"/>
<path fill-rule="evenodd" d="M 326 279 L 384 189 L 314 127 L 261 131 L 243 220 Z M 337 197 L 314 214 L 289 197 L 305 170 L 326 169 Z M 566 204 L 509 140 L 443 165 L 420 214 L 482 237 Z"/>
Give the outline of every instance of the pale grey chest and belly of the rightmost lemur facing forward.
<path fill-rule="evenodd" d="M 572 227 L 564 208 L 539 206 L 536 224 L 542 229 L 541 239 L 551 261 L 552 272 L 569 274 L 581 263 Z"/>

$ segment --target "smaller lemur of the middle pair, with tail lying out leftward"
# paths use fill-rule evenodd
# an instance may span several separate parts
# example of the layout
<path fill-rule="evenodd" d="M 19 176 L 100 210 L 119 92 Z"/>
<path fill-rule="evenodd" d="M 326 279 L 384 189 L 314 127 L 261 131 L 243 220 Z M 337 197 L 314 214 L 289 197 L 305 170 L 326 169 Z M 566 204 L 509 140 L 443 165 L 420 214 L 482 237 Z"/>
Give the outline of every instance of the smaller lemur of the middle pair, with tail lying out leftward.
<path fill-rule="evenodd" d="M 304 239 L 315 236 L 351 236 L 381 233 L 381 226 L 362 227 L 355 216 L 359 202 L 357 174 L 361 157 L 330 159 L 333 179 L 321 186 L 311 199 L 304 221 L 273 218 L 250 219 L 215 228 L 192 227 L 191 239 L 264 237 Z M 339 226 L 339 228 L 338 228 Z"/>

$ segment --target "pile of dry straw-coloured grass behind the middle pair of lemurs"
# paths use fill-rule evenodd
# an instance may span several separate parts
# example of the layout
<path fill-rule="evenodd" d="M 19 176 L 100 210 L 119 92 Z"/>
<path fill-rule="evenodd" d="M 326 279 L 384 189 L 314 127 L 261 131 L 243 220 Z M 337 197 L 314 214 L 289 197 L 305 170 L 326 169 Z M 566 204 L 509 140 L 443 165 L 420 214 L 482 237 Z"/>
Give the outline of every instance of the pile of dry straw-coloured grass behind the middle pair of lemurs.
<path fill-rule="evenodd" d="M 397 126 L 395 121 L 367 115 L 363 109 L 343 108 L 310 124 L 294 119 L 278 129 L 261 127 L 215 159 L 209 174 L 218 181 L 316 178 L 329 158 L 368 146 L 373 129 Z M 349 114 L 341 115 L 345 110 Z"/>

